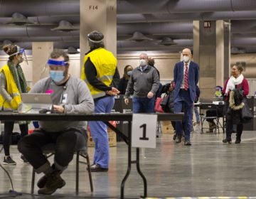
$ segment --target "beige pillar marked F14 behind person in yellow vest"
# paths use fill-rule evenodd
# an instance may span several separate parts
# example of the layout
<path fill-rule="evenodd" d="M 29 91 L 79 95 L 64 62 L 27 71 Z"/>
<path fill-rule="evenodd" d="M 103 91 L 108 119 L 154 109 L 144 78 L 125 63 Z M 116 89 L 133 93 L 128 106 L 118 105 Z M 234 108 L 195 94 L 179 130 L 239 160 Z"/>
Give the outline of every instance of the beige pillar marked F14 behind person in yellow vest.
<path fill-rule="evenodd" d="M 91 31 L 102 32 L 105 48 L 117 55 L 117 0 L 80 0 L 81 66 L 90 50 L 87 34 Z"/>

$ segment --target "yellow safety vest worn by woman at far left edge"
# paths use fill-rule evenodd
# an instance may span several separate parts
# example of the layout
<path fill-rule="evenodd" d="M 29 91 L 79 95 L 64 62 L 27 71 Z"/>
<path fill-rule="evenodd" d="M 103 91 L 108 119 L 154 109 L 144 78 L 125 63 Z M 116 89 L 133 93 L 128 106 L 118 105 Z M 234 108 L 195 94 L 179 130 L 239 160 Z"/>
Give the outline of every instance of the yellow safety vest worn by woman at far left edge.
<path fill-rule="evenodd" d="M 14 76 L 11 74 L 11 70 L 9 69 L 8 65 L 4 65 L 1 68 L 0 73 L 4 72 L 6 77 L 6 91 L 11 95 L 12 100 L 11 102 L 7 102 L 3 96 L 0 95 L 0 106 L 1 110 L 9 110 L 9 109 L 18 109 L 18 104 L 21 103 L 21 94 L 18 91 L 18 87 L 14 81 Z"/>

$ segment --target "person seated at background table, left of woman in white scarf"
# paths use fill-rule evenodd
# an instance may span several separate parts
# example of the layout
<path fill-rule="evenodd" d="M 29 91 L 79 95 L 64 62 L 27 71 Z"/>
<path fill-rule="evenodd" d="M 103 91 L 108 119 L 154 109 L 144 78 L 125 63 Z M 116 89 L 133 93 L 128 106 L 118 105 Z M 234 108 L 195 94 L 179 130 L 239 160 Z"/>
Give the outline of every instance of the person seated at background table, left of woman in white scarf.
<path fill-rule="evenodd" d="M 216 86 L 215 87 L 214 97 L 223 98 L 222 91 L 223 91 L 223 87 Z M 218 115 L 218 117 L 223 117 L 223 109 L 222 108 L 218 108 L 217 112 L 214 109 L 210 109 L 210 110 L 206 111 L 206 117 L 217 117 L 217 115 Z M 208 133 L 212 133 L 213 129 L 216 128 L 216 124 L 215 124 L 213 119 L 206 119 L 206 121 L 209 124 L 209 131 L 208 131 Z"/>

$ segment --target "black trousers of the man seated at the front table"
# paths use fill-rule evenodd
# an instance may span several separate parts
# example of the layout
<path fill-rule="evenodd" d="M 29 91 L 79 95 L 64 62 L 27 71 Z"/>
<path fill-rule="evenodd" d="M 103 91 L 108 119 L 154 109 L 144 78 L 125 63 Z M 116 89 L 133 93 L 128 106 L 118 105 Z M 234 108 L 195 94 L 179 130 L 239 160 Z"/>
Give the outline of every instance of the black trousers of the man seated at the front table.
<path fill-rule="evenodd" d="M 46 144 L 55 144 L 54 163 L 60 170 L 63 170 L 72 161 L 74 152 L 86 146 L 87 134 L 85 130 L 78 131 L 76 129 L 59 132 L 46 132 L 38 129 L 18 142 L 18 150 L 37 170 L 50 164 L 41 149 Z"/>

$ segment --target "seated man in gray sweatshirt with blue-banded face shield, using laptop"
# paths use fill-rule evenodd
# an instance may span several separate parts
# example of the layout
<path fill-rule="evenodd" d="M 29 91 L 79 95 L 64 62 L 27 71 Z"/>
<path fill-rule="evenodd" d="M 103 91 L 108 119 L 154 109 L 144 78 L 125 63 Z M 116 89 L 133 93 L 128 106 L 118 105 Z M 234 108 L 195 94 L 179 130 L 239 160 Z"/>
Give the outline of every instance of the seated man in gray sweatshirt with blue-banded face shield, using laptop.
<path fill-rule="evenodd" d="M 36 82 L 31 93 L 51 93 L 53 112 L 63 114 L 91 114 L 95 108 L 86 83 L 68 74 L 69 58 L 63 50 L 53 50 L 48 60 L 50 77 Z M 54 163 L 41 150 L 46 144 L 55 144 Z M 50 195 L 62 188 L 65 181 L 60 174 L 73 159 L 73 152 L 87 144 L 86 122 L 39 122 L 39 129 L 18 142 L 18 150 L 37 173 L 44 173 L 37 185 L 39 194 Z"/>

